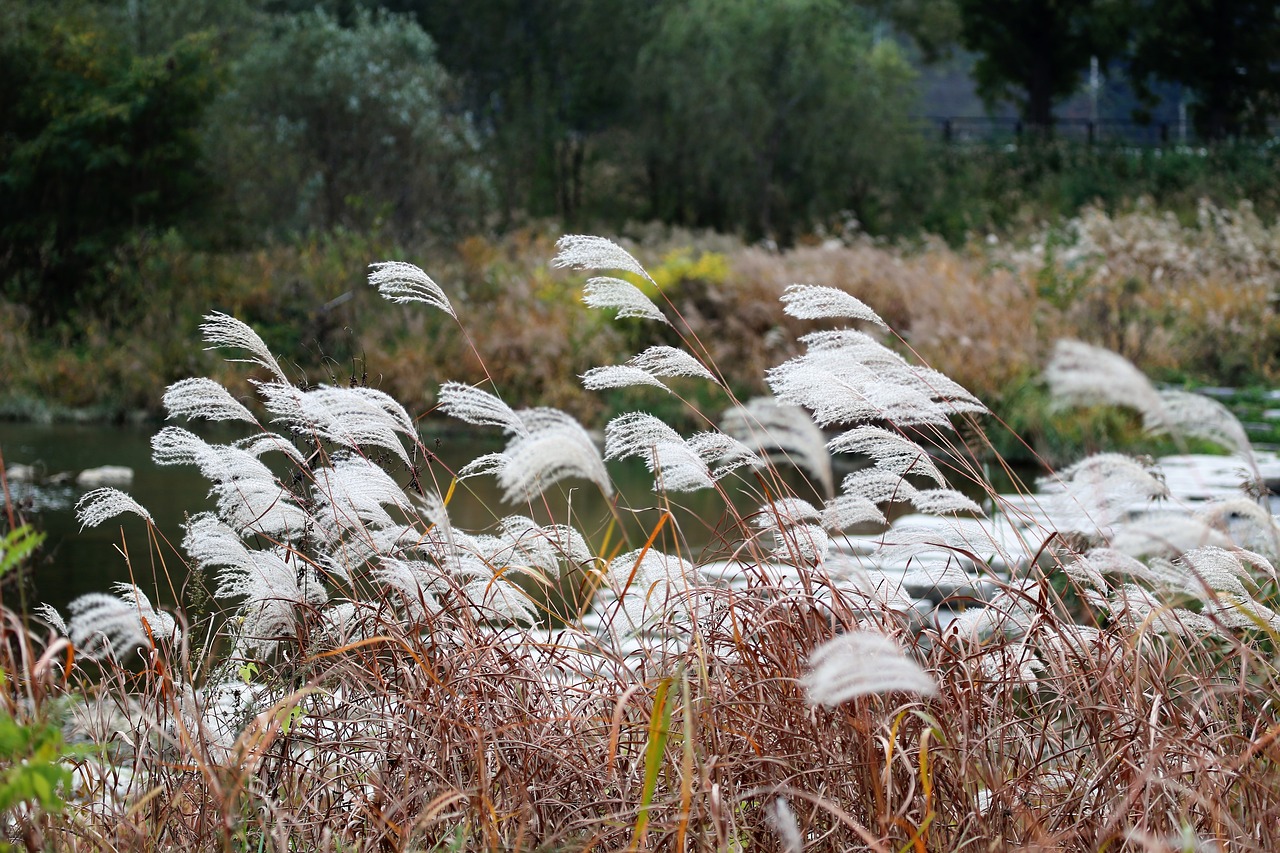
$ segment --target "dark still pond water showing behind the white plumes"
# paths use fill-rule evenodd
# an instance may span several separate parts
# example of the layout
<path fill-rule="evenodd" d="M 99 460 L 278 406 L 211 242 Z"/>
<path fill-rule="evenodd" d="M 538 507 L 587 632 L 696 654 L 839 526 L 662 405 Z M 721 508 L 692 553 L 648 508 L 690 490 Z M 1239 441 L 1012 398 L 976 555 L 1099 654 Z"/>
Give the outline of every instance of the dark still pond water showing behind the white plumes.
<path fill-rule="evenodd" d="M 192 428 L 191 424 L 186 424 Z M 20 424 L 0 423 L 0 453 L 5 465 L 35 465 L 46 475 L 61 471 L 76 474 L 101 465 L 123 465 L 133 469 L 132 485 L 124 488 L 145 506 L 156 523 L 159 538 L 150 540 L 142 520 L 124 515 L 99 528 L 81 530 L 76 521 L 76 502 L 84 493 L 74 483 L 31 485 L 12 483 L 12 497 L 24 507 L 24 512 L 49 538 L 37 557 L 33 574 L 35 598 L 61 610 L 77 596 L 88 592 L 106 592 L 113 581 L 132 580 L 159 602 L 175 602 L 175 590 L 186 578 L 179 543 L 182 524 L 192 514 L 212 508 L 209 482 L 193 466 L 161 466 L 151 461 L 151 437 L 160 429 L 156 424 L 143 425 L 81 425 L 81 424 Z M 229 429 L 204 429 L 206 441 L 228 442 L 244 435 Z M 424 442 L 439 457 L 424 476 L 430 483 L 434 475 L 440 491 L 448 489 L 449 470 L 457 470 L 476 456 L 502 448 L 497 430 L 476 430 L 475 434 L 434 433 L 424 430 Z M 621 535 L 627 548 L 644 544 L 649 532 L 659 521 L 662 512 L 653 494 L 653 476 L 644 465 L 630 461 L 611 464 L 609 473 L 618 488 L 618 517 L 622 519 Z M 815 498 L 799 473 L 787 473 L 796 494 Z M 732 476 L 728 478 L 732 480 Z M 760 505 L 753 496 L 751 483 L 728 483 L 739 510 L 750 512 Z M 716 549 L 721 537 L 718 529 L 728 526 L 722 498 L 703 491 L 673 497 L 675 526 L 664 525 L 663 539 L 657 547 L 676 548 L 672 538 L 677 532 L 681 549 L 698 555 Z M 492 530 L 498 519 L 527 515 L 540 524 L 572 523 L 600 552 L 608 546 L 612 552 L 620 542 L 620 530 L 611 524 L 611 512 L 599 489 L 584 482 L 566 482 L 550 489 L 547 500 L 535 506 L 506 505 L 493 478 L 468 479 L 458 485 L 449 502 L 449 517 L 454 525 L 468 532 Z M 124 553 L 129 560 L 125 561 Z M 131 576 L 132 565 L 132 576 Z M 17 606 L 18 602 L 6 602 Z"/>

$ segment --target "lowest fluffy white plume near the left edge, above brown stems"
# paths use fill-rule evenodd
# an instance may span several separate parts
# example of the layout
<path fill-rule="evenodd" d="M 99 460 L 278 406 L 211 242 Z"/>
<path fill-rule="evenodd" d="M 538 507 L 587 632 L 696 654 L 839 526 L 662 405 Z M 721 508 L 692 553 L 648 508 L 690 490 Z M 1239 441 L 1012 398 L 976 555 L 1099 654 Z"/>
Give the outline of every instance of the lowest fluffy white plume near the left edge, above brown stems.
<path fill-rule="evenodd" d="M 173 616 L 156 611 L 141 589 L 125 583 L 111 588 L 115 596 L 88 593 L 68 606 L 67 634 L 82 654 L 115 654 L 178 635 Z"/>

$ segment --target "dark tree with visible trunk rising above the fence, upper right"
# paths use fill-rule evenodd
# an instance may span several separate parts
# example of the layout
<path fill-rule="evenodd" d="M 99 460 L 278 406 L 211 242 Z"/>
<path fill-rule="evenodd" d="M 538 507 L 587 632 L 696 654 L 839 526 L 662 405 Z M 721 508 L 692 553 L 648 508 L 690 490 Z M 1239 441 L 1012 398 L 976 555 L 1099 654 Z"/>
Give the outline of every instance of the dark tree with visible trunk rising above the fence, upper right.
<path fill-rule="evenodd" d="M 983 100 L 1014 100 L 1037 128 L 1052 127 L 1055 101 L 1079 88 L 1089 58 L 1105 59 L 1117 46 L 1116 0 L 956 1 L 961 41 L 978 54 Z"/>

